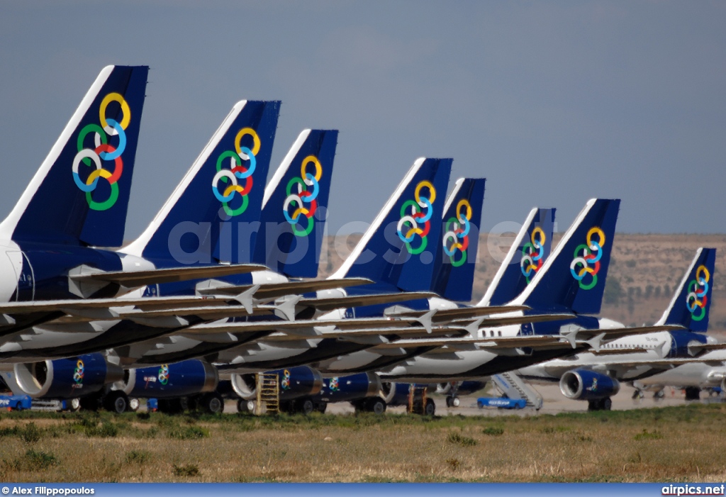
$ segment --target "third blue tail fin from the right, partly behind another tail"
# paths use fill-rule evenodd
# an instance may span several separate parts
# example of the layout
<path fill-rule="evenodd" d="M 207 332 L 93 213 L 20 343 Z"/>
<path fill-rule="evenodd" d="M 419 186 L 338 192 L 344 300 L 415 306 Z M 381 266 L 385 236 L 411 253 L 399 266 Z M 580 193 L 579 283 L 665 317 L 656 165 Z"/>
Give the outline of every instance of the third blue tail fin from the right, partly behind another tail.
<path fill-rule="evenodd" d="M 521 294 L 550 255 L 554 229 L 555 209 L 532 209 L 477 305 L 504 305 Z"/>

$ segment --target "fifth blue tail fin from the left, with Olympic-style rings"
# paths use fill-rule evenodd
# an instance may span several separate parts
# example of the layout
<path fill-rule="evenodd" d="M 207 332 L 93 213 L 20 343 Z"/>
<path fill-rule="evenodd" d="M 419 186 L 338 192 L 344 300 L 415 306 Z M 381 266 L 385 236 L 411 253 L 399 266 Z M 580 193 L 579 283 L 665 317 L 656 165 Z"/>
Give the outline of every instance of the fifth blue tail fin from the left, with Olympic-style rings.
<path fill-rule="evenodd" d="M 460 178 L 444 206 L 444 237 L 433 258 L 431 291 L 458 302 L 471 300 L 486 179 Z"/>

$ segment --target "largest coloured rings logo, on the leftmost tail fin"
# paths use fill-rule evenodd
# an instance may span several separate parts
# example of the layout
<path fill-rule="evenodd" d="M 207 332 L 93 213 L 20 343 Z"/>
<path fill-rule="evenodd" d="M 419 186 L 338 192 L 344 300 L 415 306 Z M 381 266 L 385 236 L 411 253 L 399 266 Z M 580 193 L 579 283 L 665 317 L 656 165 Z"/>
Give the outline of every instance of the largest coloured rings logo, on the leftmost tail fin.
<path fill-rule="evenodd" d="M 106 109 L 111 102 L 118 102 L 121 105 L 121 112 L 123 113 L 121 123 L 106 118 Z M 78 134 L 78 153 L 76 157 L 73 157 L 73 181 L 78 189 L 81 189 L 81 192 L 86 192 L 86 202 L 88 202 L 89 208 L 107 210 L 112 208 L 116 200 L 118 200 L 118 180 L 123 173 L 121 154 L 126 149 L 125 130 L 129 126 L 129 122 L 131 122 L 131 109 L 121 94 L 110 93 L 104 97 L 99 110 L 99 122 L 101 126 L 95 123 L 87 124 Z M 94 148 L 83 148 L 83 141 L 91 133 L 94 134 Z M 116 147 L 108 143 L 110 136 L 118 136 L 118 145 Z M 113 161 L 113 173 L 103 167 L 102 160 Z M 95 166 L 94 171 L 91 171 L 89 177 L 86 178 L 86 183 L 83 183 L 81 176 L 78 175 L 78 166 L 81 165 L 81 162 L 87 166 Z M 91 197 L 91 193 L 98 186 L 99 178 L 105 179 L 111 186 L 111 193 L 103 202 L 96 202 Z"/>

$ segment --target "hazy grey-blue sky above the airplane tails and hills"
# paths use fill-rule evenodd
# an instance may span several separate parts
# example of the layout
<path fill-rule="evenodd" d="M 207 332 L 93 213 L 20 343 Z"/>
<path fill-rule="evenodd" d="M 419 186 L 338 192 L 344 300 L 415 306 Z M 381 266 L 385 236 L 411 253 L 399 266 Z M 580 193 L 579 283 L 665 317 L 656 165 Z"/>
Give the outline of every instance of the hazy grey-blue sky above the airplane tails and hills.
<path fill-rule="evenodd" d="M 281 99 L 272 167 L 340 129 L 330 223 L 372 221 L 416 157 L 487 178 L 484 230 L 591 197 L 619 231 L 725 233 L 719 1 L 0 2 L 0 215 L 101 68 L 150 65 L 126 237 L 240 99 Z"/>

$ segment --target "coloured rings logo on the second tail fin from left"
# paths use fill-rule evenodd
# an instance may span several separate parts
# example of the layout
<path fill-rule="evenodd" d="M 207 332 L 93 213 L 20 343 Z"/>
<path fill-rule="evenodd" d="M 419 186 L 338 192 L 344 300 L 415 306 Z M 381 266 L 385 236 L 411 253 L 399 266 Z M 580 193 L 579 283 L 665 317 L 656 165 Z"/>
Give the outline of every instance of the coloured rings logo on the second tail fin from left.
<path fill-rule="evenodd" d="M 248 147 L 242 147 L 242 137 L 244 136 L 252 137 L 251 150 Z M 240 215 L 247 210 L 250 203 L 248 194 L 252 191 L 252 175 L 257 167 L 257 155 L 260 147 L 261 141 L 257 132 L 252 128 L 242 128 L 234 137 L 234 150 L 225 150 L 217 157 L 217 173 L 212 179 L 212 193 L 219 202 L 222 202 L 224 212 L 230 217 Z M 222 163 L 227 159 L 229 159 L 229 169 L 222 168 Z M 247 167 L 242 165 L 242 161 L 249 161 Z M 242 180 L 244 180 L 245 186 L 242 186 Z M 221 186 L 219 181 L 223 183 Z M 242 205 L 232 209 L 229 207 L 229 203 L 234 199 L 235 193 L 240 194 Z"/>

